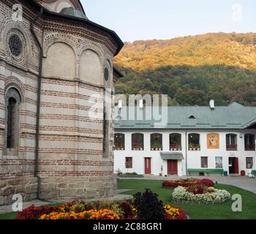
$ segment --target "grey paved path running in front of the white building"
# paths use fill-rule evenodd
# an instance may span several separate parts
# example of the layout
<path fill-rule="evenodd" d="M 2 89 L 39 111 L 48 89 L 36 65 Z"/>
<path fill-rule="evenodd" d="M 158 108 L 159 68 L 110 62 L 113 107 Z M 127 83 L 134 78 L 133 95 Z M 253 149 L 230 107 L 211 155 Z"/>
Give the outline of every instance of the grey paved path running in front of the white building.
<path fill-rule="evenodd" d="M 132 179 L 144 179 L 144 180 L 178 180 L 180 178 L 211 178 L 214 182 L 218 184 L 229 184 L 233 186 L 237 186 L 241 189 L 245 189 L 247 191 L 253 192 L 256 194 L 256 178 L 248 178 L 241 176 L 168 176 L 168 177 L 160 177 L 160 176 L 145 176 L 144 178 L 132 178 Z M 121 178 L 121 179 L 131 179 L 131 178 Z"/>

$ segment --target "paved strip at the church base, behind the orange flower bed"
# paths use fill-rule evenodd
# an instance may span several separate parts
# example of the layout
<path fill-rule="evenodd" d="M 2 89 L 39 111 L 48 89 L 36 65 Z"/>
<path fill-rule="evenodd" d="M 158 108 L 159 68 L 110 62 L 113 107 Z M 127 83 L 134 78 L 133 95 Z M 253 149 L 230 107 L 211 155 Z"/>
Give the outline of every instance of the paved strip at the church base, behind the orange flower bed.
<path fill-rule="evenodd" d="M 117 194 L 115 197 L 111 197 L 109 199 L 101 199 L 101 200 L 123 200 L 129 199 L 132 196 L 130 195 L 121 195 L 121 192 L 126 192 L 128 189 L 119 189 L 117 190 Z M 93 201 L 95 199 L 91 199 Z M 31 200 L 30 202 L 23 203 L 23 208 L 28 208 L 31 205 L 41 206 L 41 205 L 50 205 L 56 203 L 69 203 L 71 200 L 50 200 L 50 201 L 41 201 L 41 200 Z M 0 214 L 6 214 L 12 212 L 12 205 L 0 205 Z"/>

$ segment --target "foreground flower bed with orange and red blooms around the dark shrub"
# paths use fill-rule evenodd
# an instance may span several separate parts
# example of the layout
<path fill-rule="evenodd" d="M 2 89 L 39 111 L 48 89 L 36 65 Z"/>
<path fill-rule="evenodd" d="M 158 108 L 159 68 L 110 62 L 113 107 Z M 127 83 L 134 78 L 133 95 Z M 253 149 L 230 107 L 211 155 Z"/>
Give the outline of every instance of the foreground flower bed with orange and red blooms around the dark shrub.
<path fill-rule="evenodd" d="M 180 208 L 162 205 L 160 210 L 164 212 L 164 219 L 187 219 L 187 215 Z M 102 202 L 77 200 L 56 207 L 36 208 L 31 205 L 19 212 L 15 219 L 141 219 L 140 214 L 142 211 L 135 207 L 134 200 Z"/>

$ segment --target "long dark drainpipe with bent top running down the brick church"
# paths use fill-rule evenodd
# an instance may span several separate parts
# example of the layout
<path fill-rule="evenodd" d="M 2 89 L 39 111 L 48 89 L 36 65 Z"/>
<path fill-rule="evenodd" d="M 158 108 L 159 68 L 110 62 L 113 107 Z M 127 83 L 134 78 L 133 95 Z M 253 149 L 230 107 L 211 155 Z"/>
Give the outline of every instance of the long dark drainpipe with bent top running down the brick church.
<path fill-rule="evenodd" d="M 34 169 L 34 176 L 37 178 L 37 199 L 40 199 L 40 193 L 41 193 L 41 177 L 39 176 L 39 170 L 38 170 L 38 161 L 39 161 L 39 120 L 40 120 L 40 103 L 41 103 L 41 83 L 42 83 L 42 56 L 43 56 L 43 50 L 42 45 L 39 42 L 39 39 L 37 37 L 37 34 L 34 31 L 34 24 L 37 22 L 37 20 L 42 16 L 43 10 L 42 7 L 36 17 L 31 22 L 31 33 L 34 36 L 34 39 L 37 42 L 37 46 L 40 51 L 39 56 L 39 72 L 38 72 L 38 86 L 37 86 L 37 125 L 36 125 L 36 155 L 35 155 L 35 169 Z"/>

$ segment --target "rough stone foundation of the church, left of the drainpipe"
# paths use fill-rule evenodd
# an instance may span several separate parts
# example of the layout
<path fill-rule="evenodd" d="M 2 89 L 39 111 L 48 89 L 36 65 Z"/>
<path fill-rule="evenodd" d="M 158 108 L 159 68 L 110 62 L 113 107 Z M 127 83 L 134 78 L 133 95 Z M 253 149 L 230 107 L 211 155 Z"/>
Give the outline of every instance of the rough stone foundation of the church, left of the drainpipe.
<path fill-rule="evenodd" d="M 0 180 L 0 205 L 10 205 L 15 202 L 12 196 L 19 194 L 23 201 L 37 198 L 37 178 L 23 177 Z"/>

